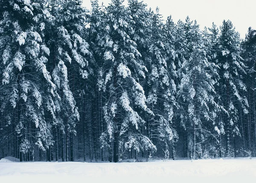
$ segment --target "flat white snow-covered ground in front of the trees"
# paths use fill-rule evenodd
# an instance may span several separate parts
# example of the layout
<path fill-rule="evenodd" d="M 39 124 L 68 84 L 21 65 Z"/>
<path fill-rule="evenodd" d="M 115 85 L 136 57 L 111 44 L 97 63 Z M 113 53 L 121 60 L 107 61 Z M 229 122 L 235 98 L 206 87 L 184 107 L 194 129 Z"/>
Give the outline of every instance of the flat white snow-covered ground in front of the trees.
<path fill-rule="evenodd" d="M 256 159 L 171 160 L 147 163 L 4 162 L 0 183 L 247 183 Z"/>

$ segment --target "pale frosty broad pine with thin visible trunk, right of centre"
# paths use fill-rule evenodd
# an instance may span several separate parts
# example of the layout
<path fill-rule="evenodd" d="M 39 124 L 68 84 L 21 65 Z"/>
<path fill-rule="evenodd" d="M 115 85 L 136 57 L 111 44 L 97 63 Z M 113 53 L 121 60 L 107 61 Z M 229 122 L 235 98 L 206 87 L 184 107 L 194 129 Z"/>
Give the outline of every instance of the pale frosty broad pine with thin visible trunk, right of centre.
<path fill-rule="evenodd" d="M 181 107 L 181 125 L 187 131 L 188 151 L 193 159 L 197 159 L 204 141 L 208 137 L 215 138 L 212 131 L 219 106 L 214 99 L 213 85 L 218 73 L 216 65 L 206 58 L 207 49 L 199 25 L 187 17 L 184 26 L 189 54 L 182 63 L 183 77 L 178 86 L 177 99 Z"/>

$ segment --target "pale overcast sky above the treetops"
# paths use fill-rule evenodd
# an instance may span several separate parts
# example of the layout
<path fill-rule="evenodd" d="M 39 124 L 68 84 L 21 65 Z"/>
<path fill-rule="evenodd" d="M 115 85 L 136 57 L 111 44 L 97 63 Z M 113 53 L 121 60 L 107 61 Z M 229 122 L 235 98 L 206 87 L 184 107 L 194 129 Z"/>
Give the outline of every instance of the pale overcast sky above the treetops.
<path fill-rule="evenodd" d="M 111 0 L 99 0 L 100 5 L 102 2 L 107 6 Z M 211 27 L 212 22 L 220 26 L 224 19 L 232 21 L 241 38 L 245 37 L 249 26 L 256 29 L 256 0 L 144 0 L 144 3 L 154 10 L 158 6 L 164 19 L 172 15 L 177 22 L 189 16 L 197 20 L 201 29 Z M 83 4 L 90 9 L 90 0 L 84 0 Z"/>

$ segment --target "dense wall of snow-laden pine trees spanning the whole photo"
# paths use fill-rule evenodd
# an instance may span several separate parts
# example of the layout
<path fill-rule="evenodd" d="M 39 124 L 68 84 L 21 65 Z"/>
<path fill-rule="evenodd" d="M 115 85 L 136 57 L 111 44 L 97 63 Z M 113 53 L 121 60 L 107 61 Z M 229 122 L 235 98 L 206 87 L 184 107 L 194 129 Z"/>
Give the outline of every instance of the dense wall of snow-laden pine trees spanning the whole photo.
<path fill-rule="evenodd" d="M 256 156 L 255 30 L 81 4 L 0 0 L 0 157 Z"/>

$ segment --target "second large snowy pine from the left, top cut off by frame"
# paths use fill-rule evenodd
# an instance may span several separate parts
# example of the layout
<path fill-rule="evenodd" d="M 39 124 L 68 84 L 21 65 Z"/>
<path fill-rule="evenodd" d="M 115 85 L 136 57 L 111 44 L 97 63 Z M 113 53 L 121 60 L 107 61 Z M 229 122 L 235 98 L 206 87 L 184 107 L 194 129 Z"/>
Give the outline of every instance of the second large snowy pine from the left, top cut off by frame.
<path fill-rule="evenodd" d="M 58 91 L 58 97 L 55 99 L 58 106 L 55 131 L 57 128 L 61 131 L 62 160 L 64 160 L 64 134 L 66 134 L 67 161 L 73 161 L 73 149 L 70 148 L 73 148 L 76 122 L 80 119 L 73 93 L 79 89 L 83 90 L 77 84 L 81 83 L 78 79 L 87 79 L 92 74 L 92 70 L 88 67 L 92 55 L 85 40 L 87 10 L 81 6 L 81 3 L 81 0 L 50 0 L 48 9 L 53 18 L 46 25 L 49 31 L 45 36 L 45 42 L 51 50 L 49 62 L 52 65 L 52 77 Z M 75 88 L 75 85 L 78 87 Z"/>

